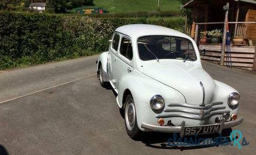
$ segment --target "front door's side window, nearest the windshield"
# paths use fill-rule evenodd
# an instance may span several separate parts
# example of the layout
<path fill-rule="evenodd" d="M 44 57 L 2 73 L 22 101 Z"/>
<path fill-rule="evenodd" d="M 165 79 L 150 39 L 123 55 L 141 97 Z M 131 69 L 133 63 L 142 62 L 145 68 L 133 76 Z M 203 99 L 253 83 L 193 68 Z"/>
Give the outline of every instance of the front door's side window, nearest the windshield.
<path fill-rule="evenodd" d="M 122 38 L 121 45 L 120 45 L 120 54 L 128 58 L 129 60 L 132 59 L 132 46 L 131 40 L 127 38 Z"/>

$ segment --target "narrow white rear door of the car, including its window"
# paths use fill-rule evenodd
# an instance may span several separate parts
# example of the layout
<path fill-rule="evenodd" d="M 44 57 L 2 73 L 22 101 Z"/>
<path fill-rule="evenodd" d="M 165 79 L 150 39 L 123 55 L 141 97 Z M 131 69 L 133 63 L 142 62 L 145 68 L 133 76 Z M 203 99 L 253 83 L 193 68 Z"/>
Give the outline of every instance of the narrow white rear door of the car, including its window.
<path fill-rule="evenodd" d="M 108 76 L 110 77 L 112 84 L 117 86 L 117 54 L 119 49 L 120 34 L 114 33 L 112 36 L 112 42 L 109 47 L 109 60 L 107 65 Z"/>

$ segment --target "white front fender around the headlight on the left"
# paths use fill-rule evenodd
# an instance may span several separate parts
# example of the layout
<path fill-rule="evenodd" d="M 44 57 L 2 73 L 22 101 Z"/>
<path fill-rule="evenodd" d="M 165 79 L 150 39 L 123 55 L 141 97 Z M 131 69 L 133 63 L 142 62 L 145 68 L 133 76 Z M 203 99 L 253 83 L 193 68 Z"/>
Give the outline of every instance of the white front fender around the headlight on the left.
<path fill-rule="evenodd" d="M 125 75 L 119 82 L 118 106 L 124 108 L 124 94 L 127 89 L 131 92 L 135 102 L 136 118 L 139 128 L 143 120 L 155 121 L 156 113 L 150 108 L 150 99 L 155 95 L 161 95 L 165 99 L 165 106 L 174 103 L 186 103 L 183 95 L 167 86 L 158 82 L 139 71 L 132 71 L 132 74 Z M 150 86 L 150 87 L 149 87 Z M 141 129 L 142 130 L 142 129 Z"/>

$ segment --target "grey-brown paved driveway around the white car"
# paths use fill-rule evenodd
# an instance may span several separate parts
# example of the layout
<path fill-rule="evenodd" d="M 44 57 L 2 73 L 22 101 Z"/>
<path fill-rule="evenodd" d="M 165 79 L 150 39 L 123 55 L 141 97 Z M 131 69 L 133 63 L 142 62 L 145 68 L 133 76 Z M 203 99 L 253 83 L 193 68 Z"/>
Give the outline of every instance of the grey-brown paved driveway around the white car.
<path fill-rule="evenodd" d="M 249 141 L 233 146 L 165 147 L 172 134 L 132 140 L 111 89 L 100 87 L 97 56 L 0 72 L 0 154 L 255 154 L 256 74 L 203 62 L 217 80 L 241 94 L 242 125 Z"/>

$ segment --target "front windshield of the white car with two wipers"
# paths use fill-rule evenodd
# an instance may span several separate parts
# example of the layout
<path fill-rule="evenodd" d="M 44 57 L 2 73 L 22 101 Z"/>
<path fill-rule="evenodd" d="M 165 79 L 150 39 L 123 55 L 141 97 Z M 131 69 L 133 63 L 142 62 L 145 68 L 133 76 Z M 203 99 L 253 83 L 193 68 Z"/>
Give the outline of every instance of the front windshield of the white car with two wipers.
<path fill-rule="evenodd" d="M 141 60 L 181 59 L 197 60 L 190 40 L 171 36 L 145 36 L 138 39 Z"/>

